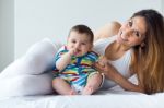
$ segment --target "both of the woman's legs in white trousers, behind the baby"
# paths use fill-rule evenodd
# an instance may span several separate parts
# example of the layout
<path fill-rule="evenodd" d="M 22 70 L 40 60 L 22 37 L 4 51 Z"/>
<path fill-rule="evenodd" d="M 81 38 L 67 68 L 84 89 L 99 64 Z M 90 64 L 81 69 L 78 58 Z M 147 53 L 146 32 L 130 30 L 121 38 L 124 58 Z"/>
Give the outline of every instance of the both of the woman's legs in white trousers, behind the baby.
<path fill-rule="evenodd" d="M 60 46 L 60 43 L 52 44 L 47 38 L 34 44 L 25 56 L 0 73 L 0 96 L 51 93 L 52 76 L 44 72 L 54 67 L 54 56 Z"/>

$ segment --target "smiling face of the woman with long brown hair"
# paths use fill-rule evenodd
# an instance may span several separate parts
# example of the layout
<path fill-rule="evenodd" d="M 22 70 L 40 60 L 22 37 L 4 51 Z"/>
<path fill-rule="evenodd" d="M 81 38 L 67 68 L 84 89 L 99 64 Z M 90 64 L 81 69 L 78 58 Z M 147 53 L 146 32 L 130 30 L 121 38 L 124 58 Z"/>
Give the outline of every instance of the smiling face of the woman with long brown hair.
<path fill-rule="evenodd" d="M 140 45 L 145 38 L 145 32 L 144 17 L 134 16 L 122 24 L 118 32 L 117 43 L 127 47 Z"/>

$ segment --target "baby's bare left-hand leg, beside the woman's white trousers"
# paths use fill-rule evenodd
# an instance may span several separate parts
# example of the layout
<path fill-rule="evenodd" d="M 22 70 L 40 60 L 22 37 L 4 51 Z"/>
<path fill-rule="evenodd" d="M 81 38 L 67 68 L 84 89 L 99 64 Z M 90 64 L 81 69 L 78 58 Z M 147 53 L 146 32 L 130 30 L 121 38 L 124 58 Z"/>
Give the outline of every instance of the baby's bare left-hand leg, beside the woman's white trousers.
<path fill-rule="evenodd" d="M 52 88 L 60 95 L 77 95 L 71 86 L 60 77 L 52 80 Z"/>

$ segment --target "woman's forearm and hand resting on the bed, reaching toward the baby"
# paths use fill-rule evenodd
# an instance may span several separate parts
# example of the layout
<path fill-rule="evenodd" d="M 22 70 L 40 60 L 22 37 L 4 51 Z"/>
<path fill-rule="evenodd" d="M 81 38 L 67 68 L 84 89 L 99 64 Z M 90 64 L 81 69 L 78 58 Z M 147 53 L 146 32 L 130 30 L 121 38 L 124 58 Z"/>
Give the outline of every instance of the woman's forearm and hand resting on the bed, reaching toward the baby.
<path fill-rule="evenodd" d="M 95 63 L 95 67 L 99 72 L 104 73 L 107 79 L 113 80 L 118 85 L 120 85 L 124 89 L 144 93 L 142 87 L 129 82 L 113 65 L 107 63 L 103 67 L 103 65 L 99 65 L 98 63 Z"/>

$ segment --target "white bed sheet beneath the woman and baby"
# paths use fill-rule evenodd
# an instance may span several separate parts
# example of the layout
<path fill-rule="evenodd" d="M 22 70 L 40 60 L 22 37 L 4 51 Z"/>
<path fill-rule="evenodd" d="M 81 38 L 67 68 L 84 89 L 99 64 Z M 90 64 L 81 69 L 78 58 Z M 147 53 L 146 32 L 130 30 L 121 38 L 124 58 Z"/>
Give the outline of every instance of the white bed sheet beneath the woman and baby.
<path fill-rule="evenodd" d="M 164 108 L 164 93 L 145 95 L 109 89 L 91 96 L 24 96 L 0 98 L 0 108 Z"/>

